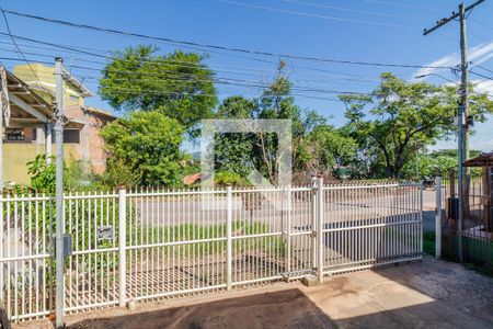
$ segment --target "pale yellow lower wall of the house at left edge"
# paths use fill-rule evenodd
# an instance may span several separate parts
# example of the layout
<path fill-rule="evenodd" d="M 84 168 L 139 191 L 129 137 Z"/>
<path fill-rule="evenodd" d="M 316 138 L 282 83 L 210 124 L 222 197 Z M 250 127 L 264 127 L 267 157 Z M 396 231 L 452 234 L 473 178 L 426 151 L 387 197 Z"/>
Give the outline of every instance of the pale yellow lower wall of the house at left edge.
<path fill-rule="evenodd" d="M 3 181 L 26 185 L 30 183 L 26 163 L 33 161 L 36 155 L 44 154 L 44 144 L 3 144 Z M 53 145 L 55 151 L 55 145 Z M 67 162 L 76 157 L 74 145 L 64 145 L 64 156 Z"/>

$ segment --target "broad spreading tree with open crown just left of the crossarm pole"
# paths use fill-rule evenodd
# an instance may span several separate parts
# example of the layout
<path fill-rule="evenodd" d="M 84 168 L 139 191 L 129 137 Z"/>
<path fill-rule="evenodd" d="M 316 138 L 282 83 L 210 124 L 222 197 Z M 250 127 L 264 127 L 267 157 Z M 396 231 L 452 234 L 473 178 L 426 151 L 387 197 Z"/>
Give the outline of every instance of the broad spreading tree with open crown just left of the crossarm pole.
<path fill-rule="evenodd" d="M 343 95 L 351 134 L 360 144 L 371 143 L 383 159 L 387 175 L 401 178 L 405 161 L 415 149 L 432 145 L 455 132 L 457 97 L 448 87 L 406 82 L 382 73 L 381 83 L 369 95 Z M 485 95 L 474 95 L 470 113 L 484 121 L 493 112 Z M 366 112 L 367 107 L 370 107 Z"/>

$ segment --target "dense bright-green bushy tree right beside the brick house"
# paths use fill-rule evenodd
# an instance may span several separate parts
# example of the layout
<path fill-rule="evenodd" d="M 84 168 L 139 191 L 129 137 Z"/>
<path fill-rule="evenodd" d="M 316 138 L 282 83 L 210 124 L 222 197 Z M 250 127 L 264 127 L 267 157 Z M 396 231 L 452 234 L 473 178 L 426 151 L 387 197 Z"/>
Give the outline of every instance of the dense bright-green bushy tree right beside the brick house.
<path fill-rule="evenodd" d="M 101 131 L 110 154 L 108 174 L 138 175 L 144 185 L 181 184 L 183 132 L 176 120 L 159 111 L 130 112 L 110 123 Z"/>

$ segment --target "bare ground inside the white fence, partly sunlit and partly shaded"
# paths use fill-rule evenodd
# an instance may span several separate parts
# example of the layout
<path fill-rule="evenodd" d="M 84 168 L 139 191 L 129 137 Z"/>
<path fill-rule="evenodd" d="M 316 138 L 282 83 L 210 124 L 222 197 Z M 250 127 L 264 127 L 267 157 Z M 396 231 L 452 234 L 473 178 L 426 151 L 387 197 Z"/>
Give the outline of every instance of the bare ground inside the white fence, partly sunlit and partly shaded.
<path fill-rule="evenodd" d="M 328 277 L 68 315 L 68 328 L 493 328 L 493 279 L 426 257 Z M 32 321 L 14 328 L 50 328 Z"/>

